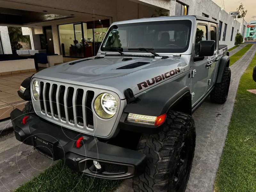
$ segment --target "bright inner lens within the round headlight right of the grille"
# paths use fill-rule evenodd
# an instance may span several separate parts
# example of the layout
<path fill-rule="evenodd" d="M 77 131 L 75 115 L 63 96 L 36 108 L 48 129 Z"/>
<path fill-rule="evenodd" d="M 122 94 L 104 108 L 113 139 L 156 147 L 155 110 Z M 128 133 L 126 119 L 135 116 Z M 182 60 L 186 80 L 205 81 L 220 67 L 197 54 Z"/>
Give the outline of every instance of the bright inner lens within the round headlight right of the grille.
<path fill-rule="evenodd" d="M 104 93 L 100 98 L 100 104 L 103 110 L 109 115 L 115 115 L 117 109 L 117 102 L 113 95 Z"/>

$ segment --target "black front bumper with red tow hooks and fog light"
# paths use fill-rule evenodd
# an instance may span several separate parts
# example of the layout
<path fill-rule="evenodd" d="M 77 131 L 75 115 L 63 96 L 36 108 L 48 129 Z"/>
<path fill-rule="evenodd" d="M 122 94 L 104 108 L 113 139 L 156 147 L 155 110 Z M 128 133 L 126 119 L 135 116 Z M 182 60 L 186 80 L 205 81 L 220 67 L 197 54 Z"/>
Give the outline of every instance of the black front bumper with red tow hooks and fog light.
<path fill-rule="evenodd" d="M 86 175 L 103 179 L 127 179 L 138 176 L 145 170 L 146 156 L 143 153 L 110 145 L 96 137 L 75 132 L 43 121 L 36 115 L 27 116 L 19 109 L 11 112 L 12 125 L 17 140 L 34 146 L 35 150 L 51 158 L 61 159 L 69 168 Z M 76 147 L 83 137 L 82 146 Z M 96 169 L 93 160 L 101 165 Z"/>

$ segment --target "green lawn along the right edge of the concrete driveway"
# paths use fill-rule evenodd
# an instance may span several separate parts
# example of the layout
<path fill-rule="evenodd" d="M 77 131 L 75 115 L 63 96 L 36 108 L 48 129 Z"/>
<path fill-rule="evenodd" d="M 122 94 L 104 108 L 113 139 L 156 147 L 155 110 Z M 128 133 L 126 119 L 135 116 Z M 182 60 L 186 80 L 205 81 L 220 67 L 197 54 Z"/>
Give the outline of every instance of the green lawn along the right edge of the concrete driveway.
<path fill-rule="evenodd" d="M 252 70 L 256 54 L 241 77 L 228 135 L 215 180 L 215 192 L 256 191 L 256 89 Z"/>

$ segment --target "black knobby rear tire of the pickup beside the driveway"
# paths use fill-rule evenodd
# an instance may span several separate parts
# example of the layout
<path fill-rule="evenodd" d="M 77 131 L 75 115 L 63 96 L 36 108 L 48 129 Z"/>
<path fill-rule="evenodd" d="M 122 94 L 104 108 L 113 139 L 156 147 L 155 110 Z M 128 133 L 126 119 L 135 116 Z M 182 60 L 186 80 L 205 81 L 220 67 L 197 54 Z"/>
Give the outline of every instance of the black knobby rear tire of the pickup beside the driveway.
<path fill-rule="evenodd" d="M 214 89 L 211 92 L 210 98 L 211 102 L 223 104 L 228 99 L 228 90 L 231 79 L 231 70 L 230 68 L 225 68 L 222 82 L 216 83 Z"/>

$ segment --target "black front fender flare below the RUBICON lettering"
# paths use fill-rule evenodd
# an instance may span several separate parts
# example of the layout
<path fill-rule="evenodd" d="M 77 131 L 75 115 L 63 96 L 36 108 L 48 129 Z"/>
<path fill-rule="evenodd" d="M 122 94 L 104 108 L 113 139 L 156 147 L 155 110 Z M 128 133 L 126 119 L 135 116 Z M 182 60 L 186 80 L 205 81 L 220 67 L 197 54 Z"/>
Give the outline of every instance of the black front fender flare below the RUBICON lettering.
<path fill-rule="evenodd" d="M 146 91 L 136 100 L 127 105 L 119 122 L 119 128 L 141 132 L 154 133 L 161 130 L 160 126 L 132 124 L 126 121 L 129 113 L 160 116 L 168 110 L 192 114 L 191 95 L 188 86 L 179 82 L 170 82 Z"/>

